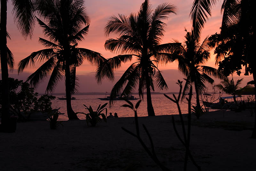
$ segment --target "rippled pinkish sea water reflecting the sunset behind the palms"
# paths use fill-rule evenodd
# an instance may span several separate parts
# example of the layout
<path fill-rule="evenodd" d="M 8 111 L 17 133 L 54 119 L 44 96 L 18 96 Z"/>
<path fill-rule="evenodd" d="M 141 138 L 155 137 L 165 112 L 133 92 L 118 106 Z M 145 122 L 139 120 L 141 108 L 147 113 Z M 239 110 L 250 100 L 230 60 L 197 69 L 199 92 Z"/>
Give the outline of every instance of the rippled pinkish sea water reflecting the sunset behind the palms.
<path fill-rule="evenodd" d="M 176 94 L 177 96 L 178 94 Z M 136 98 L 139 98 L 139 95 L 134 95 Z M 168 96 L 172 97 L 172 94 L 168 94 Z M 223 96 L 230 96 L 223 94 Z M 57 97 L 62 96 L 56 96 L 56 99 L 52 101 L 52 108 L 60 108 L 60 112 L 65 113 L 67 115 L 67 108 L 66 108 L 66 101 L 65 100 L 58 100 Z M 100 100 L 97 98 L 105 97 L 105 95 L 74 95 L 76 97 L 76 100 L 71 100 L 72 108 L 75 112 L 84 112 L 88 113 L 88 110 L 85 109 L 85 104 L 87 107 L 90 105 L 92 106 L 93 110 L 96 110 L 99 106 L 99 104 L 103 105 L 105 103 L 108 103 L 108 101 Z M 144 96 L 144 101 L 141 101 L 140 107 L 138 108 L 138 116 L 147 116 L 147 96 Z M 240 99 L 239 99 L 240 100 Z M 243 99 L 242 99 L 243 100 Z M 132 103 L 135 105 L 138 100 L 131 100 Z M 187 101 L 187 100 L 185 100 Z M 196 102 L 196 99 L 192 96 L 192 102 Z M 152 94 L 152 103 L 155 110 L 156 115 L 175 115 L 178 114 L 177 105 L 172 102 L 171 100 L 164 97 L 163 94 Z M 114 106 L 109 108 L 109 105 L 107 105 L 108 109 L 108 115 L 109 112 L 114 113 L 116 112 L 119 117 L 133 117 L 134 113 L 132 109 L 130 108 L 124 108 L 121 107 L 122 105 L 126 104 L 123 100 L 118 100 L 115 102 Z M 188 113 L 188 104 L 181 102 L 180 103 L 181 112 Z M 214 109 L 212 109 L 213 111 Z M 105 112 L 105 111 L 104 111 Z M 78 114 L 78 117 L 80 119 L 85 119 L 85 115 Z M 64 115 L 59 116 L 59 120 L 68 120 L 68 118 Z"/>

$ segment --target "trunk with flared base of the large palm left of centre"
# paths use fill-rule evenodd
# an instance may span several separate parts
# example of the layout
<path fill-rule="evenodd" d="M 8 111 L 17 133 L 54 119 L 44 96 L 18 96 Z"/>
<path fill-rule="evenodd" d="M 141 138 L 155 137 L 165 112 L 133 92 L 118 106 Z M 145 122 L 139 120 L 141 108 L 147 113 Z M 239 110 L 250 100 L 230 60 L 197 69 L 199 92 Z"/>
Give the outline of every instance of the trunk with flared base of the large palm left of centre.
<path fill-rule="evenodd" d="M 69 120 L 78 119 L 77 115 L 75 114 L 71 106 L 70 68 L 67 62 L 65 67 L 65 85 L 66 85 L 66 101 L 67 101 L 68 119 Z"/>

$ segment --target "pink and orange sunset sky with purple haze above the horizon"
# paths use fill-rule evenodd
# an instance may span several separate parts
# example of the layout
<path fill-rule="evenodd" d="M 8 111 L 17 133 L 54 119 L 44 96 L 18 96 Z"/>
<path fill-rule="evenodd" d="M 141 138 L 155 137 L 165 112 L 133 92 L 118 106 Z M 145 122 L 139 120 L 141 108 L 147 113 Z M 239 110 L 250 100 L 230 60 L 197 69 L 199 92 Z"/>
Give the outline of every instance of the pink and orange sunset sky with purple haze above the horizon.
<path fill-rule="evenodd" d="M 170 15 L 168 20 L 163 20 L 167 27 L 165 29 L 165 35 L 161 43 L 170 43 L 173 39 L 177 39 L 180 42 L 184 41 L 184 36 L 187 30 L 191 29 L 191 21 L 189 17 L 190 9 L 194 0 L 151 0 L 153 9 L 157 5 L 162 3 L 171 3 L 178 8 L 177 15 Z M 119 13 L 124 15 L 129 15 L 130 13 L 136 13 L 140 9 L 140 5 L 144 0 L 85 0 L 85 6 L 89 17 L 91 19 L 89 26 L 89 33 L 85 40 L 78 44 L 80 48 L 87 48 L 93 51 L 101 53 L 105 58 L 110 58 L 118 54 L 113 54 L 104 48 L 104 43 L 108 38 L 116 38 L 116 35 L 111 35 L 106 37 L 104 35 L 104 26 L 106 25 L 108 19 Z M 221 3 L 217 2 L 216 6 L 212 10 L 212 17 L 206 22 L 205 27 L 202 32 L 202 39 L 206 36 L 219 32 L 221 25 Z M 32 52 L 43 49 L 44 47 L 38 43 L 39 37 L 44 37 L 42 29 L 36 25 L 32 39 L 25 40 L 20 32 L 18 31 L 16 25 L 13 22 L 12 15 L 12 4 L 11 1 L 8 3 L 7 9 L 7 31 L 11 35 L 11 40 L 7 40 L 7 46 L 10 48 L 14 55 L 15 67 L 13 71 L 9 72 L 9 77 L 18 78 L 26 80 L 27 77 L 36 71 L 36 69 L 42 63 L 36 63 L 35 67 L 28 66 L 23 73 L 18 75 L 17 66 L 20 60 L 29 56 Z M 46 38 L 47 39 L 47 38 Z M 101 85 L 98 85 L 95 80 L 95 70 L 96 67 L 92 67 L 90 63 L 84 61 L 84 64 L 77 67 L 76 74 L 79 78 L 79 92 L 110 92 L 113 85 L 121 77 L 124 71 L 128 68 L 131 63 L 122 64 L 122 67 L 115 71 L 115 81 L 109 82 L 107 79 L 103 80 Z M 211 53 L 211 59 L 206 64 L 208 66 L 217 68 L 215 66 L 213 51 Z M 175 84 L 178 79 L 182 80 L 185 78 L 180 71 L 177 70 L 177 63 L 169 63 L 167 65 L 160 65 L 158 68 L 162 71 L 165 81 L 169 87 L 167 91 L 160 91 L 156 89 L 157 92 L 177 92 L 179 87 Z M 252 80 L 252 76 L 244 76 L 244 70 L 242 74 L 238 77 L 234 73 L 234 79 L 244 78 L 242 86 L 246 85 L 246 82 Z M 219 83 L 219 80 L 216 80 Z M 42 82 L 36 91 L 39 93 L 44 93 L 47 85 L 47 79 Z M 65 92 L 64 80 L 59 83 L 54 93 Z"/>

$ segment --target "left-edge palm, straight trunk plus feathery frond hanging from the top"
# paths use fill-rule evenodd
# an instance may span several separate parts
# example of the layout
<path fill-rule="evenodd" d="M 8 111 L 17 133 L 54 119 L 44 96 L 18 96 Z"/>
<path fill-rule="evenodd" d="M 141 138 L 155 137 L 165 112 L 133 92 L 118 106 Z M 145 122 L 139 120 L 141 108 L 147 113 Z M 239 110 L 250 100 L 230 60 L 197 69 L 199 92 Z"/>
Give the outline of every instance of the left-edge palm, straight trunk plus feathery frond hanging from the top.
<path fill-rule="evenodd" d="M 36 0 L 35 0 L 36 1 Z M 10 64 L 10 56 L 8 57 L 7 45 L 7 0 L 0 2 L 0 56 L 1 56 L 1 71 L 2 71 L 2 95 L 5 97 L 2 100 L 2 130 L 8 131 L 9 114 L 9 86 L 8 86 L 8 64 Z M 12 0 L 14 21 L 16 22 L 21 34 L 26 38 L 31 37 L 35 24 L 35 10 L 32 0 Z"/>

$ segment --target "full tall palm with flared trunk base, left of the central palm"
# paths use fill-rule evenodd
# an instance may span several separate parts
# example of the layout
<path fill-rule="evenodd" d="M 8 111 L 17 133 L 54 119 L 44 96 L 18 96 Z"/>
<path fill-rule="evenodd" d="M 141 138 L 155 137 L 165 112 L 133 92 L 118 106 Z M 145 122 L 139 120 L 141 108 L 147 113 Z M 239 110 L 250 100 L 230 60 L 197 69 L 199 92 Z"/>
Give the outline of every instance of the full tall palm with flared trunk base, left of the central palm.
<path fill-rule="evenodd" d="M 52 93 L 64 75 L 68 119 L 78 119 L 71 106 L 71 94 L 77 90 L 76 67 L 84 60 L 98 65 L 105 59 L 98 52 L 77 47 L 78 42 L 84 40 L 89 30 L 89 19 L 83 0 L 52 0 L 50 4 L 47 3 L 49 2 L 42 2 L 38 8 L 44 22 L 36 18 L 43 28 L 44 35 L 49 38 L 39 38 L 39 42 L 46 48 L 21 60 L 18 71 L 22 72 L 28 63 L 34 64 L 36 60 L 45 61 L 27 81 L 36 87 L 51 74 L 46 93 Z"/>

